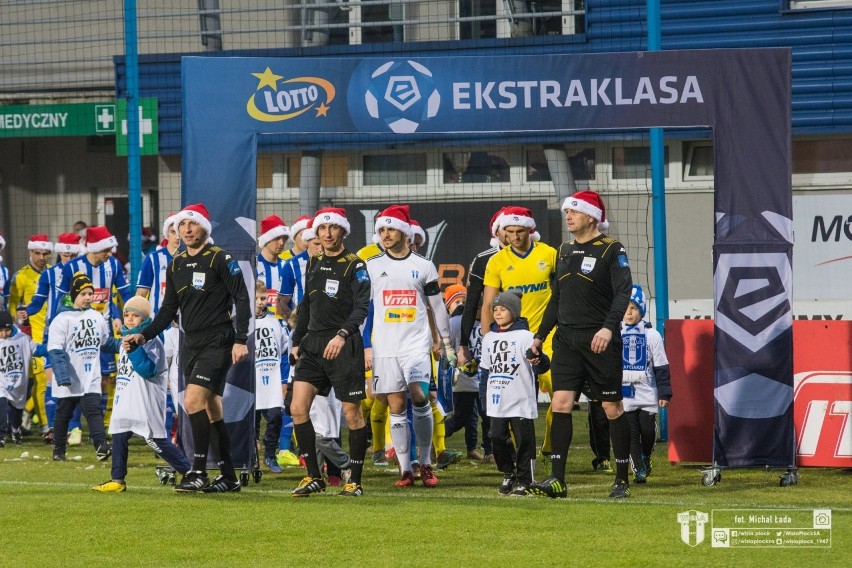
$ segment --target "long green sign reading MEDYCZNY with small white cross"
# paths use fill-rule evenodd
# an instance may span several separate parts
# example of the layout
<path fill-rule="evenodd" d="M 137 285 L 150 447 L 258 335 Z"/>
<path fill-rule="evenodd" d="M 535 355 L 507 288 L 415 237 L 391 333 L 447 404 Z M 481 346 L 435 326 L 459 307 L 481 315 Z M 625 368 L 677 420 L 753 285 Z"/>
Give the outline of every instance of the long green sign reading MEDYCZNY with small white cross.
<path fill-rule="evenodd" d="M 115 133 L 115 103 L 0 106 L 0 138 Z"/>

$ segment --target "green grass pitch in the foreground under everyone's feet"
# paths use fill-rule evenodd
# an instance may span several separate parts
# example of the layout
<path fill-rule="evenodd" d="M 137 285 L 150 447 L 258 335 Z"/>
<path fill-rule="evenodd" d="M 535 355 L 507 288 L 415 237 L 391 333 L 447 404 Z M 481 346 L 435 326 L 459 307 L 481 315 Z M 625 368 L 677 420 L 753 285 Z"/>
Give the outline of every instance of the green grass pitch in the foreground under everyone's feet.
<path fill-rule="evenodd" d="M 543 415 L 543 412 L 542 412 Z M 543 432 L 540 419 L 538 436 Z M 658 444 L 646 485 L 608 499 L 610 474 L 591 471 L 585 412 L 574 414 L 568 498 L 504 497 L 492 465 L 463 460 L 439 471 L 436 489 L 397 489 L 396 470 L 365 466 L 365 495 L 330 488 L 290 496 L 298 468 L 265 472 L 239 494 L 175 494 L 159 485 L 163 464 L 134 439 L 128 491 L 100 494 L 109 462 L 91 446 L 54 463 L 33 436 L 0 449 L 3 566 L 848 566 L 852 474 L 803 469 L 779 487 L 780 471 L 733 469 L 712 487 L 695 465 L 670 465 Z M 344 447 L 346 434 L 344 433 Z M 463 433 L 448 446 L 463 447 Z M 24 452 L 29 457 L 21 458 Z M 39 459 L 36 459 L 36 456 Z M 681 542 L 677 513 L 714 509 L 831 509 L 830 548 L 695 547 Z"/>

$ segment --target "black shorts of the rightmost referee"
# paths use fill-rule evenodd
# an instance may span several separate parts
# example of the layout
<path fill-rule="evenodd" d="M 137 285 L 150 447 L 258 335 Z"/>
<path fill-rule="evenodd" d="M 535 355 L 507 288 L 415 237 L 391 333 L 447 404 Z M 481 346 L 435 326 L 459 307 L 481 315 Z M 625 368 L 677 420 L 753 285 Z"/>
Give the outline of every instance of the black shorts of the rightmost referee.
<path fill-rule="evenodd" d="M 613 334 L 603 353 L 594 353 L 595 333 L 557 329 L 550 363 L 553 390 L 583 392 L 593 400 L 617 402 L 621 400 L 621 334 Z"/>

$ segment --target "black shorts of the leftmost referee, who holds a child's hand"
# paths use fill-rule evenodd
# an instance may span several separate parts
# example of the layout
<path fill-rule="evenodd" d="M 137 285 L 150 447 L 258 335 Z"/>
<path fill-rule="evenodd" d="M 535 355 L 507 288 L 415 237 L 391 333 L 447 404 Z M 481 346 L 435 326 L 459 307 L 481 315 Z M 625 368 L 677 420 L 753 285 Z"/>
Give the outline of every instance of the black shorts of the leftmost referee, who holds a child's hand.
<path fill-rule="evenodd" d="M 230 325 L 185 335 L 183 376 L 186 384 L 222 396 L 233 361 L 236 332 Z"/>

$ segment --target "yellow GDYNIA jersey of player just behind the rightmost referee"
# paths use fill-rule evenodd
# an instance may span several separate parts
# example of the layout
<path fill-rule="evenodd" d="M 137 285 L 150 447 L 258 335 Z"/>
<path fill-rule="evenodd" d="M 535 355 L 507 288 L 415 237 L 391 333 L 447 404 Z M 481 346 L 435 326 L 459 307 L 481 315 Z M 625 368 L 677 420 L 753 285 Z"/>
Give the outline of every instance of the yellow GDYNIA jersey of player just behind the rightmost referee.
<path fill-rule="evenodd" d="M 556 271 L 556 249 L 534 242 L 525 255 L 512 247 L 498 251 L 485 267 L 485 286 L 503 290 L 517 289 L 521 296 L 521 317 L 535 332 L 541 325 L 544 309 L 550 301 L 550 276 Z"/>

